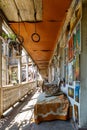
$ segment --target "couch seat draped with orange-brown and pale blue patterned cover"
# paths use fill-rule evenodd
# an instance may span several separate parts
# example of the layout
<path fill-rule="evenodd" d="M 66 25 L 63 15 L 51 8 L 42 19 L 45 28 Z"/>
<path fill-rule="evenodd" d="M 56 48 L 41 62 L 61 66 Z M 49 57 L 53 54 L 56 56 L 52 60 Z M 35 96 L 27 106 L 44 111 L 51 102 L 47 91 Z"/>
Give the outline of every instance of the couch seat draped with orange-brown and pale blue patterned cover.
<path fill-rule="evenodd" d="M 45 93 L 41 93 L 34 106 L 34 120 L 36 123 L 55 119 L 67 120 L 68 110 L 69 101 L 64 94 L 46 97 Z"/>

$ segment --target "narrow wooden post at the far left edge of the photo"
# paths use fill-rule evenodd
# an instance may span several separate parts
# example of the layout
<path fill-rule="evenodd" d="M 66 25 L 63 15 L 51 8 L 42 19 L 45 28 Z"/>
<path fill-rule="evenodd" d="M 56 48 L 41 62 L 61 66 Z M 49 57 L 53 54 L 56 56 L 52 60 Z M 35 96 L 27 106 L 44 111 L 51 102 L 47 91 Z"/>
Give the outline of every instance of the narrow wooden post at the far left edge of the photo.
<path fill-rule="evenodd" d="M 2 35 L 2 18 L 0 17 L 0 36 Z M 0 116 L 3 114 L 3 91 L 2 91 L 2 40 L 0 39 Z"/>

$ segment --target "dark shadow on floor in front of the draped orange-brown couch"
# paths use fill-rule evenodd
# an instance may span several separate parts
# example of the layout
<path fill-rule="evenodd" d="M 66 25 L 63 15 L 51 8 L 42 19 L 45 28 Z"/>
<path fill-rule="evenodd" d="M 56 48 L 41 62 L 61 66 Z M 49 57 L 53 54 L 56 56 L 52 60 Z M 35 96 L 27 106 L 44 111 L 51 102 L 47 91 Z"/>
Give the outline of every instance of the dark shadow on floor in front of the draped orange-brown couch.
<path fill-rule="evenodd" d="M 22 127 L 22 130 L 75 130 L 70 121 L 49 121 L 40 124 L 31 123 Z"/>

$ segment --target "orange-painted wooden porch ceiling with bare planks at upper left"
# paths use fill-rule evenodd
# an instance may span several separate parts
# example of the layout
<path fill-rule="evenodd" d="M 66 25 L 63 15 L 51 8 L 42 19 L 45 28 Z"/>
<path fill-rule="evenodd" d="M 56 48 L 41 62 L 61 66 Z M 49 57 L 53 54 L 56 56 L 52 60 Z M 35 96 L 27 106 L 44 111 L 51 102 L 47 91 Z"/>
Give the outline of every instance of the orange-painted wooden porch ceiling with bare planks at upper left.
<path fill-rule="evenodd" d="M 48 67 L 71 2 L 72 0 L 0 0 L 0 8 L 10 27 L 16 34 L 20 32 L 23 36 L 23 46 L 39 69 Z M 39 42 L 34 42 L 31 38 L 35 30 L 40 36 Z"/>

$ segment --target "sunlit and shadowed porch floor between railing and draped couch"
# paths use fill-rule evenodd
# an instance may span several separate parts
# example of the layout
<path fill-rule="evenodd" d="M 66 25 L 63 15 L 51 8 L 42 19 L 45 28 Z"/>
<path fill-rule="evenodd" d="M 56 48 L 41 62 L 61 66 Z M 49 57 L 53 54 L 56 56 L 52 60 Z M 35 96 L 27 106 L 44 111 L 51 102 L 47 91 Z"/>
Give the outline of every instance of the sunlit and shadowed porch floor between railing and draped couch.
<path fill-rule="evenodd" d="M 27 96 L 22 102 L 16 104 L 14 108 L 5 113 L 0 119 L 0 130 L 77 130 L 71 121 L 49 121 L 39 125 L 32 121 L 33 107 L 37 101 L 37 91 L 34 95 Z"/>

